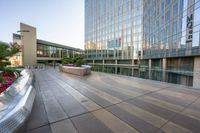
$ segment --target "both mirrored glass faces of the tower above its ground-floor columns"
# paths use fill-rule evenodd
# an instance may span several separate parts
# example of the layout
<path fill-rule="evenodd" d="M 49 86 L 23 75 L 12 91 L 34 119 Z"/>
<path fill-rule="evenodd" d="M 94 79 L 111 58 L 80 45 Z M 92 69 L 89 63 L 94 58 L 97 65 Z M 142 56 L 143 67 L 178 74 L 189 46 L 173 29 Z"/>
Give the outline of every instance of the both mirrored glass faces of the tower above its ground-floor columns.
<path fill-rule="evenodd" d="M 199 55 L 199 8 L 200 0 L 85 0 L 87 58 Z"/>

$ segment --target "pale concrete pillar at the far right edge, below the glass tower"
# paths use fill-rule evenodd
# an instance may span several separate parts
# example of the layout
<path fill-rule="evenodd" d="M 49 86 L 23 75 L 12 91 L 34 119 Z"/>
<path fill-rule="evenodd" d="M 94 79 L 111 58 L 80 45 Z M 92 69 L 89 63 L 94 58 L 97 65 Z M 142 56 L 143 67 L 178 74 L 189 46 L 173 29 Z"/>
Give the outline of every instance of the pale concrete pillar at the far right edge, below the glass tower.
<path fill-rule="evenodd" d="M 193 87 L 200 89 L 200 57 L 194 58 Z"/>

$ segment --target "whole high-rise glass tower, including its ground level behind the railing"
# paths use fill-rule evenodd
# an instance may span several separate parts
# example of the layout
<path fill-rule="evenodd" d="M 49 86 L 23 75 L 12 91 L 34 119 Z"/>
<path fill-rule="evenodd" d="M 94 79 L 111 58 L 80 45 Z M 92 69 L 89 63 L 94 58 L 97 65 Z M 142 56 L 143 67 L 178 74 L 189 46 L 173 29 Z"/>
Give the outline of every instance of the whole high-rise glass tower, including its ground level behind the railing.
<path fill-rule="evenodd" d="M 199 16 L 200 0 L 85 0 L 87 62 L 97 71 L 200 87 Z"/>

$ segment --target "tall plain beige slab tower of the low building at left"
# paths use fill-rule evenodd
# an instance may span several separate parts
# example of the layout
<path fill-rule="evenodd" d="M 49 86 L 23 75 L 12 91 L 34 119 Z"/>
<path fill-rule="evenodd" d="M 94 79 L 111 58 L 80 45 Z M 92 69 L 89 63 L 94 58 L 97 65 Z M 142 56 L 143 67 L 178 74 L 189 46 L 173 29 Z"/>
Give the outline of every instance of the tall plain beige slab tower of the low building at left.
<path fill-rule="evenodd" d="M 37 63 L 36 28 L 20 23 L 22 36 L 22 60 L 24 66 L 33 66 Z"/>

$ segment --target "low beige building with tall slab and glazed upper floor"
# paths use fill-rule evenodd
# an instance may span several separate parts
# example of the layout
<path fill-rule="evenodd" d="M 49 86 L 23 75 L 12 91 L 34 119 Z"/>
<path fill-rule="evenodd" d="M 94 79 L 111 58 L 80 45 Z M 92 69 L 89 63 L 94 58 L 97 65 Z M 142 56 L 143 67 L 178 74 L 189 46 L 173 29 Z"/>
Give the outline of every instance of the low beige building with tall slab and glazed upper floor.
<path fill-rule="evenodd" d="M 21 34 L 13 34 L 13 43 L 19 44 L 21 51 L 11 58 L 12 64 L 32 66 L 37 63 L 54 63 L 60 62 L 63 56 L 83 54 L 81 49 L 37 39 L 35 27 L 21 23 L 19 32 Z"/>

